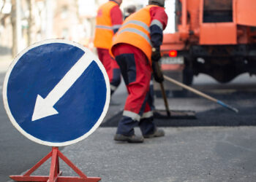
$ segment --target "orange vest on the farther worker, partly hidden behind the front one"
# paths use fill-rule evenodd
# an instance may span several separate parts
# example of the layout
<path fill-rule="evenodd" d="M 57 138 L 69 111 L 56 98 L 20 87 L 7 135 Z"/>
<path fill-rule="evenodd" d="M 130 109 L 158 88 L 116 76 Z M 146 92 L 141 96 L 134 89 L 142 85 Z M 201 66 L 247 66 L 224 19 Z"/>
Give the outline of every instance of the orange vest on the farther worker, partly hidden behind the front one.
<path fill-rule="evenodd" d="M 108 1 L 99 7 L 96 17 L 94 47 L 110 49 L 114 35 L 113 29 L 115 28 L 111 23 L 110 11 L 117 5 L 114 1 Z"/>

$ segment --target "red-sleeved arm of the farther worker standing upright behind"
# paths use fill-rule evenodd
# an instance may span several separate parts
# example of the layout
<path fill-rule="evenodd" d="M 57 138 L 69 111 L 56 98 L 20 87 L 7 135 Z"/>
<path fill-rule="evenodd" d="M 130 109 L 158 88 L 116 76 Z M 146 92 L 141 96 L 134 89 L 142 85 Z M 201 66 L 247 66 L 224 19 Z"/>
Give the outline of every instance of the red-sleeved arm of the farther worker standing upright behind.
<path fill-rule="evenodd" d="M 113 25 L 113 32 L 116 33 L 123 23 L 123 15 L 121 9 L 118 6 L 113 7 L 110 10 L 111 22 Z"/>

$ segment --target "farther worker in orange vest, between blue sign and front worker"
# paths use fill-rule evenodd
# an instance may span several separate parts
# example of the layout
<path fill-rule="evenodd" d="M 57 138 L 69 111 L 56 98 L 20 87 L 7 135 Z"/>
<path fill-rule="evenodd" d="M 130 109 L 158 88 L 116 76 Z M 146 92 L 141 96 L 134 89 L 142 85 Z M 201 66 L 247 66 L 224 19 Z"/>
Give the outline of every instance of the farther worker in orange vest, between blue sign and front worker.
<path fill-rule="evenodd" d="M 111 95 L 121 82 L 118 64 L 109 53 L 113 36 L 123 23 L 123 15 L 119 8 L 121 3 L 122 0 L 110 0 L 99 7 L 94 33 L 94 47 L 97 47 L 99 60 L 101 60 L 110 79 Z"/>

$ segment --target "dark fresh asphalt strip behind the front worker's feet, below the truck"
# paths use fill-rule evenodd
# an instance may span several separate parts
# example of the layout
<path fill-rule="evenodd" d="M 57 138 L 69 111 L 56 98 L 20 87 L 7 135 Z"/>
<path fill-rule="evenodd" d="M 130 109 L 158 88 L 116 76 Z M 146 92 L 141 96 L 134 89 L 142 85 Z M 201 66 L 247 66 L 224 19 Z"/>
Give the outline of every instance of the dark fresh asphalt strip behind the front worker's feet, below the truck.
<path fill-rule="evenodd" d="M 212 94 L 215 98 L 230 103 L 235 108 L 238 108 L 238 114 L 233 111 L 218 106 L 217 108 L 209 108 L 206 111 L 195 112 L 195 117 L 192 115 L 182 117 L 154 118 L 154 122 L 159 127 L 238 127 L 238 126 L 256 126 L 255 106 L 246 105 L 245 100 L 254 98 L 255 92 L 233 92 L 226 95 Z M 195 96 L 196 97 L 196 96 Z M 214 104 L 214 103 L 213 103 Z M 217 103 L 216 103 L 217 104 Z M 182 111 L 181 111 L 182 112 Z M 162 111 L 163 113 L 163 111 Z M 188 112 L 189 113 L 189 112 Z M 192 111 L 190 111 L 192 114 Z M 118 121 L 121 119 L 122 111 L 112 116 L 101 124 L 101 127 L 117 127 Z"/>

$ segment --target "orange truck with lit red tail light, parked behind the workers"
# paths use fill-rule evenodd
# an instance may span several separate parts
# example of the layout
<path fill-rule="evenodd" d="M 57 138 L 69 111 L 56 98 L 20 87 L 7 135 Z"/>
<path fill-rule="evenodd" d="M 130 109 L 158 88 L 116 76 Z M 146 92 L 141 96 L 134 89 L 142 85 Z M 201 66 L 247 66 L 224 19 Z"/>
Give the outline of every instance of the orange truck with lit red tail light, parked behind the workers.
<path fill-rule="evenodd" d="M 185 84 L 197 74 L 221 83 L 256 74 L 256 0 L 176 0 L 175 24 L 161 47 L 164 74 Z"/>

